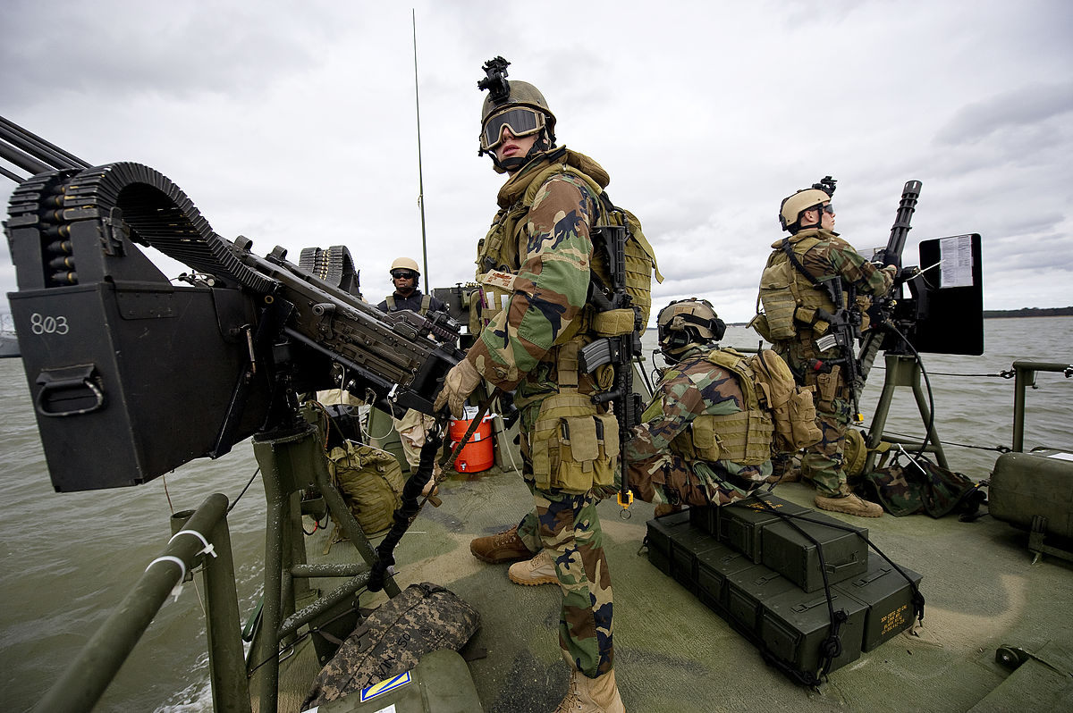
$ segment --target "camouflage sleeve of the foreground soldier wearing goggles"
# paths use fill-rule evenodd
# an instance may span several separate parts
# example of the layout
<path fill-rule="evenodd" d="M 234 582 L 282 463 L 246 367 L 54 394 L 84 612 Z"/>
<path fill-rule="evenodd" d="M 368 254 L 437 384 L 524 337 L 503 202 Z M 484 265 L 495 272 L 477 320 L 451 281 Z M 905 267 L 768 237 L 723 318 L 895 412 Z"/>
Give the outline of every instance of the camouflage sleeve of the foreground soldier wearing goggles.
<path fill-rule="evenodd" d="M 553 176 L 536 192 L 514 295 L 467 355 L 495 386 L 517 386 L 585 307 L 593 210 L 588 191 L 569 176 Z"/>

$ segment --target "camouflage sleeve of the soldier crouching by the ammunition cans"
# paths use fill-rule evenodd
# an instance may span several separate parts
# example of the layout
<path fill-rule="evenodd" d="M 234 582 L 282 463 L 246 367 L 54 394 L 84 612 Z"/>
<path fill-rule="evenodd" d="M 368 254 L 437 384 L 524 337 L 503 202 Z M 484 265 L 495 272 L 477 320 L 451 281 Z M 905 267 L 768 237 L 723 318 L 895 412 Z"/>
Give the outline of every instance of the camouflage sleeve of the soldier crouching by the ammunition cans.
<path fill-rule="evenodd" d="M 671 442 L 702 415 L 722 416 L 743 409 L 745 399 L 734 375 L 702 360 L 680 372 L 668 372 L 656 398 L 634 427 L 626 446 L 631 462 L 666 454 Z"/>

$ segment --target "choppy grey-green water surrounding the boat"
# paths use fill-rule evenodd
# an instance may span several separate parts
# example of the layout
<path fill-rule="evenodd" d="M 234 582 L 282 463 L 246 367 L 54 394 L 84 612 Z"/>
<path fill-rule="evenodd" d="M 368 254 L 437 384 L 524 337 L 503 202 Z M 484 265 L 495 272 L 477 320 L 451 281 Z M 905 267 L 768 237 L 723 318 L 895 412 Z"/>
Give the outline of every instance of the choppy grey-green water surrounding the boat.
<path fill-rule="evenodd" d="M 1009 446 L 1013 424 L 1013 381 L 994 376 L 1015 359 L 1073 360 L 1073 317 L 988 320 L 982 357 L 924 355 L 935 393 L 937 429 L 946 443 L 994 448 Z M 646 335 L 650 350 L 655 333 Z M 727 346 L 754 346 L 753 333 L 731 327 Z M 862 409 L 866 425 L 883 382 L 877 361 Z M 1073 448 L 1073 380 L 1041 373 L 1027 397 L 1026 449 L 1038 445 Z M 887 431 L 924 432 L 909 389 L 891 410 Z M 196 507 L 210 493 L 232 500 L 254 474 L 248 444 L 218 461 L 188 463 L 166 478 L 139 488 L 85 493 L 53 492 L 38 439 L 26 376 L 19 359 L 0 360 L 0 701 L 8 711 L 31 708 L 74 658 L 171 535 L 174 510 Z M 995 450 L 949 446 L 954 470 L 985 478 Z M 255 479 L 229 516 L 237 567 L 240 608 L 260 595 L 263 491 Z M 187 584 L 170 600 L 123 666 L 98 710 L 205 711 L 207 656 L 201 608 Z"/>

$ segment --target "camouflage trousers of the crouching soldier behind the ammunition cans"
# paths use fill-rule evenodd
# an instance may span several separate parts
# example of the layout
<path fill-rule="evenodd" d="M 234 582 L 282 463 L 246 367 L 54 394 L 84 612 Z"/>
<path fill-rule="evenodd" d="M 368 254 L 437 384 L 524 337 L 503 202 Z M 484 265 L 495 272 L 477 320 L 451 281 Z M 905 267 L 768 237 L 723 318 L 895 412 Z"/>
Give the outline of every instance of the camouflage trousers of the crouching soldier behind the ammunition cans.
<path fill-rule="evenodd" d="M 629 464 L 630 489 L 646 503 L 730 505 L 748 497 L 771 474 L 771 462 L 690 462 L 666 454 Z"/>

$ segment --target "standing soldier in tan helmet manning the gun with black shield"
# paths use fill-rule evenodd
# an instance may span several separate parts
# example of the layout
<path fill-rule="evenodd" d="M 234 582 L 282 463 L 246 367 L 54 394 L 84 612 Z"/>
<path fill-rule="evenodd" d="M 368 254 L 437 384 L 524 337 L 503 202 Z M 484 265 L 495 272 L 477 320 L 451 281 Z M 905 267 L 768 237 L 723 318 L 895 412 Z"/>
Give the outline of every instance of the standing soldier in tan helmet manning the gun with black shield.
<path fill-rule="evenodd" d="M 852 405 L 844 359 L 854 358 L 853 354 L 840 346 L 823 350 L 817 342 L 831 327 L 825 317 L 839 310 L 858 310 L 856 294 L 885 294 L 897 268 L 878 268 L 834 232 L 832 193 L 834 181 L 828 177 L 782 200 L 779 223 L 790 236 L 771 243 L 775 252 L 760 282 L 765 314 L 753 325 L 787 360 L 797 383 L 814 388 L 817 425 L 823 439 L 805 449 L 802 475 L 815 486 L 815 506 L 878 518 L 883 508 L 855 495 L 843 469 Z M 840 304 L 835 303 L 835 295 L 841 298 Z"/>

